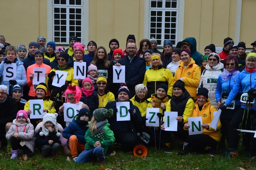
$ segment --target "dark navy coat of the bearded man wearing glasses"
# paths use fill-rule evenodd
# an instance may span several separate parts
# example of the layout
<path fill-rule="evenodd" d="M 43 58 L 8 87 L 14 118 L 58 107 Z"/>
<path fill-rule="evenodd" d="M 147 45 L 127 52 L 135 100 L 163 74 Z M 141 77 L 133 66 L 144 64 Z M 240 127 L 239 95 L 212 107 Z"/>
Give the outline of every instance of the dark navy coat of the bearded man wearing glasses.
<path fill-rule="evenodd" d="M 129 57 L 125 56 L 118 63 L 125 66 L 125 83 L 130 90 L 130 98 L 132 98 L 135 95 L 135 86 L 144 80 L 146 62 L 143 58 L 135 56 L 130 63 Z"/>

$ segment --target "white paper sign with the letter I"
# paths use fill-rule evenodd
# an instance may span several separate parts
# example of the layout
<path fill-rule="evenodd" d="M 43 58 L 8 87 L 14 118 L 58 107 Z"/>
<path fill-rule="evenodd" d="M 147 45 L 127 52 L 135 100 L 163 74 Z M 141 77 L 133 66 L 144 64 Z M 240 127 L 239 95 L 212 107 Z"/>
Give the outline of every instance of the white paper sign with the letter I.
<path fill-rule="evenodd" d="M 164 112 L 164 128 L 165 131 L 177 131 L 178 128 L 178 112 Z"/>

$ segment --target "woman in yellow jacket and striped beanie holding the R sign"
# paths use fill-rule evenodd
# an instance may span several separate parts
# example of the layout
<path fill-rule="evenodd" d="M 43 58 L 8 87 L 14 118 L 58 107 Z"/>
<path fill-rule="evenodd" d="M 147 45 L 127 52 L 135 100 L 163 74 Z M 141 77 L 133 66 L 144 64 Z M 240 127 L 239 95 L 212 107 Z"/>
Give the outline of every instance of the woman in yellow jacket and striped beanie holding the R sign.
<path fill-rule="evenodd" d="M 47 113 L 56 113 L 56 110 L 54 108 L 54 106 L 51 108 L 50 107 L 53 103 L 52 100 L 47 99 L 46 96 L 46 92 L 47 92 L 47 87 L 45 83 L 40 83 L 39 85 L 36 86 L 36 97 L 34 99 L 43 99 L 43 104 L 44 104 L 44 109 L 43 112 L 47 112 Z M 30 110 L 30 100 L 28 100 L 24 106 L 24 110 L 28 111 L 28 115 L 30 115 L 31 110 Z M 36 125 L 41 122 L 42 119 L 30 119 L 31 124 L 34 126 L 34 128 L 36 128 Z"/>

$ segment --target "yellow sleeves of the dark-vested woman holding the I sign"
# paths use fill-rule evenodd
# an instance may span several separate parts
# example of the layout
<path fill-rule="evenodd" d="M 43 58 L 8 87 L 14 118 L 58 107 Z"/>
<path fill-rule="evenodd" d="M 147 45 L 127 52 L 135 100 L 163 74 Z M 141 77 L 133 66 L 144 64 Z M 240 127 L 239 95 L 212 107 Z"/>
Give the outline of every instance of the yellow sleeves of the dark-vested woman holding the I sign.
<path fill-rule="evenodd" d="M 171 112 L 171 100 L 170 99 L 168 101 L 168 103 L 165 105 L 166 106 L 166 112 Z M 183 123 L 186 123 L 188 122 L 188 118 L 191 117 L 192 113 L 193 113 L 193 110 L 194 110 L 194 107 L 195 107 L 195 102 L 192 98 L 188 99 L 188 102 L 186 104 L 186 107 L 185 107 L 185 110 L 183 112 L 183 115 L 182 115 L 182 118 L 183 118 Z M 164 118 L 163 118 L 163 122 L 164 122 Z"/>

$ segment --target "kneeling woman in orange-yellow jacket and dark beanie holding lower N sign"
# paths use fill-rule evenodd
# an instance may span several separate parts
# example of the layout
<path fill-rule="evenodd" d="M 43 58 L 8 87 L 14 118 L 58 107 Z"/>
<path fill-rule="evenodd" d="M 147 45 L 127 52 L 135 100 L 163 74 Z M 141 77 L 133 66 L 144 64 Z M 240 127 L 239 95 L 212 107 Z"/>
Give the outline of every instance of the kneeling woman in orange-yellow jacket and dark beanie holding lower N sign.
<path fill-rule="evenodd" d="M 197 101 L 191 117 L 202 117 L 203 134 L 189 135 L 186 139 L 188 143 L 186 151 L 208 151 L 210 153 L 216 150 L 216 146 L 220 142 L 220 119 L 216 131 L 209 126 L 214 117 L 213 112 L 217 111 L 217 109 L 210 104 L 208 92 L 205 88 L 198 89 Z M 188 128 L 188 123 L 186 123 L 184 129 L 188 130 Z"/>

